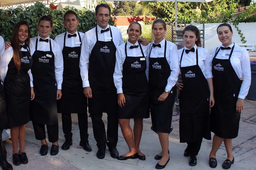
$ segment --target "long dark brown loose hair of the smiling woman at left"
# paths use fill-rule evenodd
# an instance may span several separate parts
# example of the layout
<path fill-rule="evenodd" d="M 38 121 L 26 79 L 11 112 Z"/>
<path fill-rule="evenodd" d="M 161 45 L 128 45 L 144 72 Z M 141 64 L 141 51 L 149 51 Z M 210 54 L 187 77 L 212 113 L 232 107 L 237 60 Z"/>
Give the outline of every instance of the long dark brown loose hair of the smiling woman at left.
<path fill-rule="evenodd" d="M 28 27 L 28 38 L 25 40 L 25 44 L 29 46 L 30 44 L 30 37 L 31 37 L 31 31 L 29 28 L 29 24 L 26 21 L 20 21 L 13 27 L 13 32 L 11 33 L 11 47 L 13 48 L 13 60 L 15 67 L 17 69 L 17 72 L 20 73 L 21 69 L 21 47 L 20 47 L 20 41 L 19 41 L 19 29 L 21 25 L 26 25 Z"/>

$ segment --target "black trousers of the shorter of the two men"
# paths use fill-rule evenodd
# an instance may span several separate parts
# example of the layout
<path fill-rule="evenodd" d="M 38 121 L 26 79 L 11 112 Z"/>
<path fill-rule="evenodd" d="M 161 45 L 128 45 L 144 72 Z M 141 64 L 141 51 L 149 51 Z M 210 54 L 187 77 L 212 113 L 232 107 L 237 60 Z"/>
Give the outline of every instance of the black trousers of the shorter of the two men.
<path fill-rule="evenodd" d="M 80 132 L 81 141 L 88 140 L 88 116 L 86 113 L 77 113 L 78 117 L 78 127 Z M 64 133 L 65 139 L 71 139 L 73 134 L 72 130 L 72 120 L 71 113 L 62 113 L 62 130 Z"/>

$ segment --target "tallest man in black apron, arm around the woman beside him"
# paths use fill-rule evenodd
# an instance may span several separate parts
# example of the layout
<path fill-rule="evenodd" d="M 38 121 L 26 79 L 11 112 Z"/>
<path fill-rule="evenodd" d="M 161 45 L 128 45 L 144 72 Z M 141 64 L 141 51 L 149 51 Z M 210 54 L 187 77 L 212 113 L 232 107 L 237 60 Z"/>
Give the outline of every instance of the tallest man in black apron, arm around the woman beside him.
<path fill-rule="evenodd" d="M 101 3 L 95 8 L 97 26 L 87 31 L 81 48 L 80 70 L 84 94 L 88 98 L 93 134 L 97 142 L 99 159 L 105 157 L 106 144 L 110 156 L 118 158 L 117 92 L 113 73 L 116 62 L 116 47 L 123 44 L 117 27 L 109 26 L 110 7 Z M 148 42 L 143 39 L 143 44 Z M 90 62 L 90 67 L 89 67 Z M 108 115 L 107 136 L 102 121 L 102 112 Z"/>

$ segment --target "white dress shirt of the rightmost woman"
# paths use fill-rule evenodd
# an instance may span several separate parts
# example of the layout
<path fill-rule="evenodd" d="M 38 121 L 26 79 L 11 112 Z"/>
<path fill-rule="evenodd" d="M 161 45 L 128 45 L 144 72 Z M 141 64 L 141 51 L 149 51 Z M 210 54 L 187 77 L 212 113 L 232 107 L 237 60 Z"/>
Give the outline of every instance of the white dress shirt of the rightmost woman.
<path fill-rule="evenodd" d="M 234 43 L 229 45 L 229 47 L 232 49 Z M 223 46 L 223 45 L 221 45 Z M 218 47 L 218 49 L 220 46 Z M 228 59 L 230 55 L 230 50 L 219 50 L 216 58 L 217 59 Z M 212 59 L 215 56 L 216 48 L 212 51 Z M 217 51 L 216 51 L 217 52 Z M 238 45 L 234 46 L 234 50 L 232 53 L 232 56 L 230 58 L 230 62 L 232 67 L 235 70 L 236 75 L 238 78 L 243 78 L 243 82 L 240 88 L 240 92 L 238 95 L 238 98 L 245 99 L 245 97 L 248 94 L 250 84 L 251 84 L 251 67 L 250 67 L 250 57 L 248 54 L 248 51 L 245 48 L 242 48 Z"/>

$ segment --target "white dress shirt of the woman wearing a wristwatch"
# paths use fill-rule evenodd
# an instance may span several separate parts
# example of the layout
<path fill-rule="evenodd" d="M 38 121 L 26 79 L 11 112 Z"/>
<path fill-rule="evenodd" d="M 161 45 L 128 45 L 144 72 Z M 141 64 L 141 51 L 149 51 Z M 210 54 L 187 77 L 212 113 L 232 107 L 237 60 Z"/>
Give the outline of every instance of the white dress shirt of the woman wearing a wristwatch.
<path fill-rule="evenodd" d="M 163 39 L 159 44 L 161 44 L 161 48 L 158 46 L 153 47 L 150 58 L 158 58 L 158 57 L 164 57 L 164 42 L 165 39 Z M 153 42 L 155 44 L 155 40 Z M 170 42 L 166 41 L 166 60 L 170 65 L 171 74 L 167 80 L 167 85 L 165 87 L 166 90 L 171 91 L 172 87 L 176 85 L 176 82 L 178 80 L 180 68 L 179 68 L 179 57 L 178 57 L 178 50 L 177 46 Z M 150 43 L 148 48 L 148 55 L 152 46 L 152 43 Z"/>

